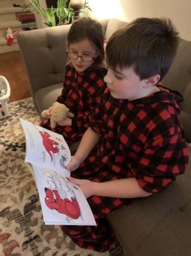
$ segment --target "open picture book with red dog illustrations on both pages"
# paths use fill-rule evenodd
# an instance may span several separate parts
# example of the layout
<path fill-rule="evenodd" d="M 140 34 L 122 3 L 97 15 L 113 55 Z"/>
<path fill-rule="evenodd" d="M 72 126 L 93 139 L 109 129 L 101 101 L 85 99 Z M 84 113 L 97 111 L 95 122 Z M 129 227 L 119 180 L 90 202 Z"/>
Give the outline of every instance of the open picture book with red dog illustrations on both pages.
<path fill-rule="evenodd" d="M 25 164 L 37 185 L 45 224 L 96 225 L 92 210 L 66 169 L 71 159 L 63 136 L 20 118 L 25 132 Z"/>

